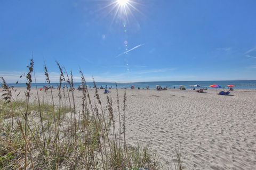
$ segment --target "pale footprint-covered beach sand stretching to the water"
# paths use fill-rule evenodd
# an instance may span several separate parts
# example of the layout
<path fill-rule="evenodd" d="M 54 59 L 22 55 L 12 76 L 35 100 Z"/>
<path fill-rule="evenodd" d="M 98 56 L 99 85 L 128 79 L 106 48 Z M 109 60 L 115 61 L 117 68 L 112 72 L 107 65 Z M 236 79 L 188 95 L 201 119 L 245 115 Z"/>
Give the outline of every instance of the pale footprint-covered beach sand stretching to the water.
<path fill-rule="evenodd" d="M 17 94 L 21 91 L 19 99 L 24 99 L 25 90 L 17 90 Z M 94 89 L 89 91 L 94 98 Z M 102 103 L 107 105 L 107 95 L 113 99 L 117 120 L 116 90 L 107 95 L 103 91 L 99 89 Z M 57 101 L 58 90 L 53 92 Z M 118 92 L 122 109 L 124 89 Z M 51 103 L 50 91 L 39 94 Z M 181 147 L 185 169 L 256 168 L 256 90 L 235 90 L 230 96 L 217 95 L 215 90 L 199 94 L 170 89 L 127 89 L 126 94 L 126 143 L 146 145 L 150 140 L 164 166 L 175 159 L 176 146 Z M 36 100 L 35 89 L 31 97 Z M 68 100 L 63 102 L 68 104 Z M 82 91 L 75 90 L 75 103 L 80 109 Z"/>

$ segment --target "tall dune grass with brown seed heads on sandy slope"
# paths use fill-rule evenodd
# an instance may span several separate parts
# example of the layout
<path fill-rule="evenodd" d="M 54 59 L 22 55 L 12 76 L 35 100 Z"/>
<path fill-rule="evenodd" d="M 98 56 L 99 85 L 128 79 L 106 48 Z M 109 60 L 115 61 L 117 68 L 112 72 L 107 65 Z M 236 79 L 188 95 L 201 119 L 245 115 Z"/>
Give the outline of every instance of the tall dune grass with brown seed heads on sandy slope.
<path fill-rule="evenodd" d="M 37 101 L 31 101 L 31 83 L 36 83 L 33 60 L 26 74 L 26 99 L 17 100 L 19 94 L 1 78 L 4 94 L 0 100 L 0 169 L 162 168 L 150 142 L 146 146 L 138 143 L 137 147 L 126 143 L 126 92 L 121 105 L 116 88 L 117 106 L 107 97 L 108 108 L 103 109 L 97 88 L 96 100 L 92 100 L 80 71 L 83 97 L 82 109 L 78 110 L 73 75 L 58 62 L 57 65 L 60 70 L 57 102 L 52 89 L 52 100 L 47 103 L 40 100 L 37 89 Z M 44 68 L 46 82 L 51 84 L 46 65 Z M 118 113 L 113 113 L 114 107 Z"/>

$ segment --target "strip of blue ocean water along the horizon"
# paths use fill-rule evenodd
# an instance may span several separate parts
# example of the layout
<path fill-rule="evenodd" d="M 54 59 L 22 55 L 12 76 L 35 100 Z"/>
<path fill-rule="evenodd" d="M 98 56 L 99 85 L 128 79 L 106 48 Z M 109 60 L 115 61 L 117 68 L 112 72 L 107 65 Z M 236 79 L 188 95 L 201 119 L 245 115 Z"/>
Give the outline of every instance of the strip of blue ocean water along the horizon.
<path fill-rule="evenodd" d="M 58 87 L 58 83 L 51 83 L 54 88 Z M 77 88 L 81 83 L 74 83 L 74 86 Z M 93 87 L 92 82 L 86 83 L 89 87 Z M 97 82 L 97 87 L 105 86 L 107 85 L 108 88 L 112 87 L 115 88 L 115 83 L 110 82 Z M 150 89 L 155 89 L 157 85 L 162 87 L 168 87 L 168 88 L 179 88 L 179 86 L 185 86 L 187 89 L 191 89 L 193 87 L 190 87 L 191 85 L 199 84 L 202 88 L 209 88 L 211 84 L 219 84 L 221 87 L 227 88 L 227 85 L 234 84 L 236 87 L 235 89 L 256 89 L 256 80 L 234 80 L 234 81 L 154 81 L 154 82 L 125 82 L 125 83 L 117 83 L 117 88 L 131 88 L 131 86 L 135 86 L 137 89 L 138 87 L 140 89 L 146 88 L 149 86 Z M 10 83 L 9 86 L 13 86 L 15 88 L 22 88 L 26 87 L 25 83 Z M 47 83 L 37 83 L 38 88 L 42 88 L 43 86 L 47 85 Z M 31 84 L 32 88 L 36 87 L 35 83 Z M 199 87 L 198 87 L 199 88 Z"/>

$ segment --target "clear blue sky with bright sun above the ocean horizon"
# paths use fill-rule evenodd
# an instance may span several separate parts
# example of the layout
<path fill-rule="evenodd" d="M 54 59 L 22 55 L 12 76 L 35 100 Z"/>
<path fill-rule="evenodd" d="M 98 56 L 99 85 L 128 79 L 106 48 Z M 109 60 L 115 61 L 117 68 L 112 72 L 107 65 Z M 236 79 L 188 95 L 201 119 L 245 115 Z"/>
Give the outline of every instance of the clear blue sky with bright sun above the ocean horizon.
<path fill-rule="evenodd" d="M 256 79 L 256 1 L 111 3 L 0 1 L 0 76 L 15 82 L 33 54 L 41 82 L 44 60 L 52 81 L 55 60 L 76 81 L 79 67 L 101 82 Z"/>

